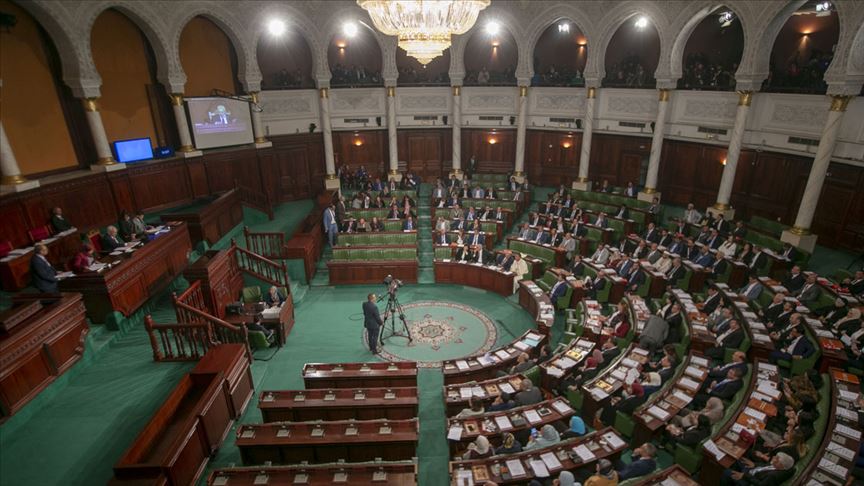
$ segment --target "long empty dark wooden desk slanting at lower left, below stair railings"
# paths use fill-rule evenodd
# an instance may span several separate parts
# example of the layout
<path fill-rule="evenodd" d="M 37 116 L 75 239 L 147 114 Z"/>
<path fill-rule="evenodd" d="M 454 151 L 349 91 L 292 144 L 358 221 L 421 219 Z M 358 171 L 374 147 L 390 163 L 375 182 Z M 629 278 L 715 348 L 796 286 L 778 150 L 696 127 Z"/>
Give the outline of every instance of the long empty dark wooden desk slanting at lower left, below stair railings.
<path fill-rule="evenodd" d="M 112 484 L 198 482 L 236 416 L 231 376 L 223 370 L 237 374 L 242 367 L 230 358 L 233 347 L 224 346 L 228 345 L 213 348 L 192 373 L 183 376 L 114 466 Z"/>

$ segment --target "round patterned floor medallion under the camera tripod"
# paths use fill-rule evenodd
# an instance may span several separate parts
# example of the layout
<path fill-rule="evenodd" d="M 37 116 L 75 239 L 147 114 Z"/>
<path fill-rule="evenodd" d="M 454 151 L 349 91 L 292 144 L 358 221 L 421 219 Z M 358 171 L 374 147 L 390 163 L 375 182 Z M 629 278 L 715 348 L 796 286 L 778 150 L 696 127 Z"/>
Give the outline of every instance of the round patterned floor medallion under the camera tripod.
<path fill-rule="evenodd" d="M 416 361 L 420 367 L 431 368 L 441 366 L 444 360 L 484 353 L 495 344 L 495 324 L 467 305 L 425 301 L 404 304 L 402 309 L 413 341 L 386 337 L 381 349 L 383 360 Z M 402 330 L 398 316 L 396 330 Z M 389 320 L 382 332 L 390 334 Z M 363 341 L 366 344 L 365 333 Z"/>

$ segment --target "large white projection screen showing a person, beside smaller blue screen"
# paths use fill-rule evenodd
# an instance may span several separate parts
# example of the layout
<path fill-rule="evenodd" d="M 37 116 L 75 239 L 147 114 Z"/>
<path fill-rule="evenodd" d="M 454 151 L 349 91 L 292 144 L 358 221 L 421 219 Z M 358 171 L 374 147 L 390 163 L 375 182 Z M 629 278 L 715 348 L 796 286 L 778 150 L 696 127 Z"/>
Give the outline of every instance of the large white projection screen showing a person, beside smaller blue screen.
<path fill-rule="evenodd" d="M 186 102 L 196 148 L 252 143 L 249 103 L 231 98 L 187 98 Z"/>

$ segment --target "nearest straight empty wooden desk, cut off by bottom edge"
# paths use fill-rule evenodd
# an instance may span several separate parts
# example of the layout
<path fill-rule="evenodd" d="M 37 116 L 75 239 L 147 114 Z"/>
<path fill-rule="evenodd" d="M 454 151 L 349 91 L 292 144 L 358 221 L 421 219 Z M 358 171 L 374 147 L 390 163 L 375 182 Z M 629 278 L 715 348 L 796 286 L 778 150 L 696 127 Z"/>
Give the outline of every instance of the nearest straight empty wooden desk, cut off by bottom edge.
<path fill-rule="evenodd" d="M 303 464 L 296 466 L 231 467 L 217 469 L 207 478 L 208 486 L 259 486 L 265 484 L 388 484 L 415 486 L 417 465 L 413 461 L 376 464 Z"/>

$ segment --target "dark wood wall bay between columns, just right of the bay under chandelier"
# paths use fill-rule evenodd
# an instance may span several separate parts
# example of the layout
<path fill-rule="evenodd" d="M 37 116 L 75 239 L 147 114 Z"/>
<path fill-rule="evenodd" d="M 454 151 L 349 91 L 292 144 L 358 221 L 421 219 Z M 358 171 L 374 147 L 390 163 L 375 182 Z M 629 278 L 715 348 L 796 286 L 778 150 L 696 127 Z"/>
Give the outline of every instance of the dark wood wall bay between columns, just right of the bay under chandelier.
<path fill-rule="evenodd" d="M 468 167 L 471 157 L 477 160 L 478 172 L 512 172 L 516 161 L 516 129 L 463 129 L 463 169 Z"/>

